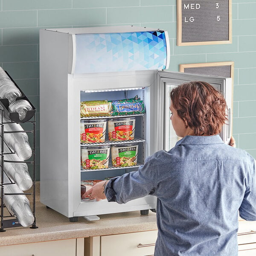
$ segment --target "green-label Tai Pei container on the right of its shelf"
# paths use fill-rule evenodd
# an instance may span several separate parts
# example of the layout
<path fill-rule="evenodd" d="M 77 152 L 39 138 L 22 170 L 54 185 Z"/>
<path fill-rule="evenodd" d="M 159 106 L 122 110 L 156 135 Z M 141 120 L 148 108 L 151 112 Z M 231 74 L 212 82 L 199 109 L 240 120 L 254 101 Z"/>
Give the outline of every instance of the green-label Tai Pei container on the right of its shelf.
<path fill-rule="evenodd" d="M 111 147 L 112 165 L 128 167 L 137 165 L 138 143 L 114 145 Z"/>

